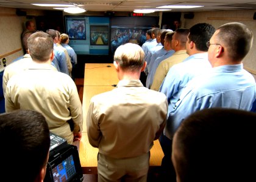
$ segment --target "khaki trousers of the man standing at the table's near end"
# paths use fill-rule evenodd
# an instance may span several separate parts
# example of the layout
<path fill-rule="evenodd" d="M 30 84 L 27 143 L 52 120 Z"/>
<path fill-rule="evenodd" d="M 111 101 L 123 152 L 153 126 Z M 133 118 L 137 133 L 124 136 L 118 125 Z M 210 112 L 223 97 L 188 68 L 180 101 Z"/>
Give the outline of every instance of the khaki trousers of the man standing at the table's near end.
<path fill-rule="evenodd" d="M 98 153 L 98 182 L 146 182 L 149 155 L 148 152 L 138 157 L 117 159 Z"/>

